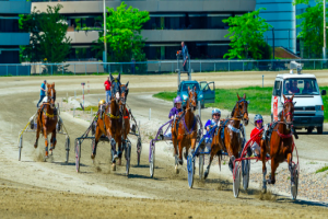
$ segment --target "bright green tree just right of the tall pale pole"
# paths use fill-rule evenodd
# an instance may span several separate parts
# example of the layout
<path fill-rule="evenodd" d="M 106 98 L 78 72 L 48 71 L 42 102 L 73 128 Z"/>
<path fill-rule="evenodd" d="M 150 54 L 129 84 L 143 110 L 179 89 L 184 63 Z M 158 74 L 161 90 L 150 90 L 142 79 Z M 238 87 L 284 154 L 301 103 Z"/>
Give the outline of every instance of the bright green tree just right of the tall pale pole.
<path fill-rule="evenodd" d="M 139 11 L 121 2 L 116 10 L 107 8 L 106 13 L 106 42 L 108 61 L 137 61 L 145 60 L 143 54 L 144 39 L 141 36 L 142 24 L 150 20 L 148 11 Z M 104 32 L 99 33 L 98 44 L 93 48 L 102 57 L 104 50 Z"/>

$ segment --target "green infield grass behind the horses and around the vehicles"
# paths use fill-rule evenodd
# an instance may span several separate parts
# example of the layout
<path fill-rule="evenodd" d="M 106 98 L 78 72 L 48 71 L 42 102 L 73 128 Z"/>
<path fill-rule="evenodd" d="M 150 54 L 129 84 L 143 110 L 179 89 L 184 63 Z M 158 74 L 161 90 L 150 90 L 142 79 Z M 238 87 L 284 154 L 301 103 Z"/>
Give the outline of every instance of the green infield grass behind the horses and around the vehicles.
<path fill-rule="evenodd" d="M 328 91 L 328 87 L 320 87 L 320 90 Z M 272 88 L 248 87 L 242 89 L 215 89 L 215 103 L 209 103 L 207 106 L 218 107 L 221 110 L 232 111 L 237 101 L 237 94 L 243 96 L 246 94 L 246 100 L 250 101 L 248 112 L 253 114 L 271 114 L 271 95 Z M 154 97 L 165 101 L 173 101 L 176 97 L 176 92 L 160 92 L 153 95 Z M 328 95 L 323 96 L 325 122 L 328 122 Z"/>

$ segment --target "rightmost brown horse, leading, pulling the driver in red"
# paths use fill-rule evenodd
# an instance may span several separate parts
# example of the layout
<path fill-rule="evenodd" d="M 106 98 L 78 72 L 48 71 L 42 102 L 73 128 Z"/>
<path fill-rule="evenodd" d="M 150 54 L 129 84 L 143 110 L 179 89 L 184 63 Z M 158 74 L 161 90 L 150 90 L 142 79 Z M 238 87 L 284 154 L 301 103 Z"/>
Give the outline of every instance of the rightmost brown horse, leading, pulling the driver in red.
<path fill-rule="evenodd" d="M 293 140 L 293 112 L 294 112 L 294 103 L 293 97 L 285 97 L 283 104 L 283 111 L 280 114 L 280 122 L 273 122 L 273 130 L 271 134 L 270 141 L 268 139 L 261 140 L 261 159 L 262 159 L 262 173 L 263 173 L 263 192 L 267 192 L 267 183 L 274 184 L 276 183 L 276 170 L 279 166 L 279 163 L 284 162 L 285 160 L 289 163 L 289 170 L 293 172 L 293 149 L 294 149 L 294 140 Z M 266 157 L 267 153 L 270 154 L 271 158 L 271 176 L 266 181 L 267 175 L 267 166 L 266 166 Z M 291 177 L 292 186 L 295 185 L 293 174 Z"/>

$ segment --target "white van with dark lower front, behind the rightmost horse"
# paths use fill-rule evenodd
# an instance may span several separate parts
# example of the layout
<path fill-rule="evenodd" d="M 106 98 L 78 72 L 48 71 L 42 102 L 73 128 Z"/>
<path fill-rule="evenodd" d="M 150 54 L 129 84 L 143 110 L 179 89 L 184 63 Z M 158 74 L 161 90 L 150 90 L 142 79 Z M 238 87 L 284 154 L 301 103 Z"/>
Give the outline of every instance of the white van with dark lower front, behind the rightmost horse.
<path fill-rule="evenodd" d="M 312 132 L 314 128 L 323 134 L 324 128 L 324 103 L 317 79 L 314 74 L 278 74 L 271 99 L 271 122 L 278 120 L 278 114 L 283 108 L 283 95 L 291 97 L 294 94 L 294 128 L 307 129 Z"/>

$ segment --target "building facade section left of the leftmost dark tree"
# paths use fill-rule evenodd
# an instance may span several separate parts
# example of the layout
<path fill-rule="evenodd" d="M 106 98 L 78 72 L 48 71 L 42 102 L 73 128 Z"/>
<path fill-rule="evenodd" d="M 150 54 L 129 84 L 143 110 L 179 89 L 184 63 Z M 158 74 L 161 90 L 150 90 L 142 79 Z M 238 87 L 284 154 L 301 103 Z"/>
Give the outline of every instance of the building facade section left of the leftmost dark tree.
<path fill-rule="evenodd" d="M 0 64 L 20 64 L 20 46 L 30 44 L 30 34 L 19 28 L 19 14 L 31 13 L 26 0 L 0 0 Z"/>

